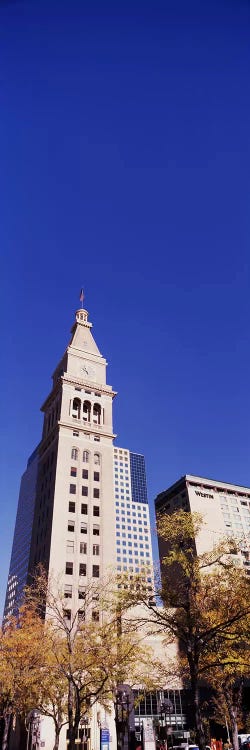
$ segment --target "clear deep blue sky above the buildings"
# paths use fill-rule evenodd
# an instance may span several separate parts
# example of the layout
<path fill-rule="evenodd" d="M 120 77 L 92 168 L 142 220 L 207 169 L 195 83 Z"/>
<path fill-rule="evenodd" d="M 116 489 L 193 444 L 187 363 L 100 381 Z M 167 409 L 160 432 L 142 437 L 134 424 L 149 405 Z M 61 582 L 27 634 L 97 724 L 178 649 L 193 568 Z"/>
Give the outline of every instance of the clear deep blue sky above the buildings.
<path fill-rule="evenodd" d="M 247 0 L 1 2 L 2 599 L 81 286 L 151 502 L 250 485 L 249 31 Z"/>

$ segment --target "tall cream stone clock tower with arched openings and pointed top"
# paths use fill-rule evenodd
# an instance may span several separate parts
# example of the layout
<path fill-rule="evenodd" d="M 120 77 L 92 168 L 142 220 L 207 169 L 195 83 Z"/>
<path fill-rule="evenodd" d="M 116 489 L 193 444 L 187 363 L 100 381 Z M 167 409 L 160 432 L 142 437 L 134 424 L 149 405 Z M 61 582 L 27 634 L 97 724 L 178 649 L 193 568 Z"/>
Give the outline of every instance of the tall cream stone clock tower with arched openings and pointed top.
<path fill-rule="evenodd" d="M 70 343 L 42 406 L 29 571 L 42 563 L 63 574 L 72 611 L 84 585 L 116 566 L 112 401 L 106 359 L 86 310 L 76 312 Z"/>

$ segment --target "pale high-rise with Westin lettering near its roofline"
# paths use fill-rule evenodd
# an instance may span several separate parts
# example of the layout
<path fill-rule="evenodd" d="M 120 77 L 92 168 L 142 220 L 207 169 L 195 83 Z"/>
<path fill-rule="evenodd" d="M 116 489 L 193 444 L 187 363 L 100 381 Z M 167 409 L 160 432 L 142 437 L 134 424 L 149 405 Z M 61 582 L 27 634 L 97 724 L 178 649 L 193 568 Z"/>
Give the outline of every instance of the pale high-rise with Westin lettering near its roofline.
<path fill-rule="evenodd" d="M 186 474 L 155 500 L 156 514 L 179 508 L 197 512 L 204 523 L 195 539 L 197 553 L 209 551 L 225 535 L 237 537 L 246 572 L 250 575 L 250 488 Z M 165 542 L 159 539 L 160 560 Z"/>

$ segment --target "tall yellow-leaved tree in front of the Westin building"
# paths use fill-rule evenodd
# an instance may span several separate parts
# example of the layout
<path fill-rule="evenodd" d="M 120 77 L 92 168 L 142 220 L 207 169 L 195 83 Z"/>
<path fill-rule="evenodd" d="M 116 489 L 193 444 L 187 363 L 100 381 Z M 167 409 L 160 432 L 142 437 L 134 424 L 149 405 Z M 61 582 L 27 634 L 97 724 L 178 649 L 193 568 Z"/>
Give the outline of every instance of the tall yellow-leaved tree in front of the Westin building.
<path fill-rule="evenodd" d="M 250 582 L 238 565 L 232 540 L 221 540 L 210 552 L 197 554 L 195 538 L 201 524 L 201 516 L 183 510 L 159 516 L 158 534 L 166 543 L 160 585 L 149 599 L 140 582 L 135 582 L 125 598 L 128 605 L 141 602 L 145 622 L 151 622 L 166 641 L 178 642 L 175 670 L 190 684 L 196 742 L 205 750 L 200 682 L 209 682 L 220 668 L 223 649 L 225 664 L 234 662 L 239 629 L 249 622 Z"/>

